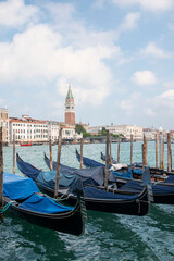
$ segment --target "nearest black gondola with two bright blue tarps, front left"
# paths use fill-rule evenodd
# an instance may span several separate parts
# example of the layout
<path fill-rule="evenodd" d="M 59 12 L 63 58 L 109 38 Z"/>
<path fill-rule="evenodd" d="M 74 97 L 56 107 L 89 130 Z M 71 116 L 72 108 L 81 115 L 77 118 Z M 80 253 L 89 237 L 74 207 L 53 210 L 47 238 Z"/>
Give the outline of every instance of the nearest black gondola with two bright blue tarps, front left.
<path fill-rule="evenodd" d="M 8 211 L 42 227 L 80 236 L 85 224 L 80 201 L 66 207 L 42 195 L 32 178 L 3 173 L 3 202 Z"/>

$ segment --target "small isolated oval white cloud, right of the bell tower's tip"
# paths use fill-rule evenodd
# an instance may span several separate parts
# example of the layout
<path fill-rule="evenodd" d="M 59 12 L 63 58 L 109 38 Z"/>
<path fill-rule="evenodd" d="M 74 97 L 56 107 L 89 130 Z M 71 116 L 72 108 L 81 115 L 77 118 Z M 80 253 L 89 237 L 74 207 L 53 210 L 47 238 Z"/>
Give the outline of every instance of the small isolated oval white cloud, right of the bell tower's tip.
<path fill-rule="evenodd" d="M 138 71 L 134 73 L 132 78 L 137 85 L 153 85 L 157 84 L 156 75 L 151 71 Z"/>

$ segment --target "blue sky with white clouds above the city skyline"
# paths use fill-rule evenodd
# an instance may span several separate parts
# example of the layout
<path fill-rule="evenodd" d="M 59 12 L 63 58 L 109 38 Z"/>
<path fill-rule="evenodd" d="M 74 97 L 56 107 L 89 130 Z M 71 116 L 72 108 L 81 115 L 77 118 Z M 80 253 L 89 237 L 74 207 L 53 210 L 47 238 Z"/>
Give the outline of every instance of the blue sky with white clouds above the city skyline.
<path fill-rule="evenodd" d="M 0 0 L 0 108 L 174 129 L 173 0 Z"/>

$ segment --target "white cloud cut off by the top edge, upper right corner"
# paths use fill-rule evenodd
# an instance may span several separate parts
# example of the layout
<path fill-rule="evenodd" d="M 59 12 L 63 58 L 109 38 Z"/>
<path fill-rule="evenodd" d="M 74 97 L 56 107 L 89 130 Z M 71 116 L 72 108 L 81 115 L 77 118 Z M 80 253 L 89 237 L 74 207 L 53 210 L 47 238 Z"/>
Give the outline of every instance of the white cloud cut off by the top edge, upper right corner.
<path fill-rule="evenodd" d="M 111 0 L 121 7 L 139 5 L 149 11 L 166 11 L 174 7 L 173 0 Z"/>

